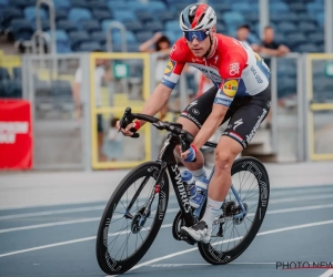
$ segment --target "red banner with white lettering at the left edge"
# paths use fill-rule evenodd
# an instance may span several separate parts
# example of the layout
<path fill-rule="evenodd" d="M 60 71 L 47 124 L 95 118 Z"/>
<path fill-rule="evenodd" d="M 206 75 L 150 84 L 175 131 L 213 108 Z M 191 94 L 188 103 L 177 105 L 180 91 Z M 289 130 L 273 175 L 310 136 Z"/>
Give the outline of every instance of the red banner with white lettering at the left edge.
<path fill-rule="evenodd" d="M 0 168 L 27 170 L 32 166 L 30 102 L 0 100 Z"/>

